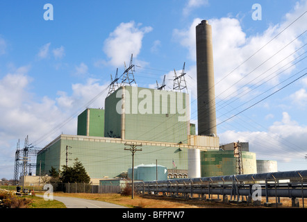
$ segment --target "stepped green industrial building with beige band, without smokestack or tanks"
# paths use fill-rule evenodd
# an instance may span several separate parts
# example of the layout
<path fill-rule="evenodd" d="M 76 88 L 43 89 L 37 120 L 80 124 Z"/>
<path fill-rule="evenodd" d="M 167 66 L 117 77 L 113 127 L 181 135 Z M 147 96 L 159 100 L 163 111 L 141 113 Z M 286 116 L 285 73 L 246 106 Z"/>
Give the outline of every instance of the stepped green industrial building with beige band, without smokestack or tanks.
<path fill-rule="evenodd" d="M 132 167 L 131 152 L 124 150 L 129 144 L 142 148 L 135 153 L 135 166 L 158 162 L 187 172 L 190 149 L 219 149 L 218 137 L 194 132 L 188 94 L 122 86 L 106 98 L 105 110 L 87 108 L 79 114 L 77 135 L 59 135 L 42 148 L 37 172 L 62 169 L 66 162 L 72 166 L 78 158 L 90 178 L 123 178 Z"/>

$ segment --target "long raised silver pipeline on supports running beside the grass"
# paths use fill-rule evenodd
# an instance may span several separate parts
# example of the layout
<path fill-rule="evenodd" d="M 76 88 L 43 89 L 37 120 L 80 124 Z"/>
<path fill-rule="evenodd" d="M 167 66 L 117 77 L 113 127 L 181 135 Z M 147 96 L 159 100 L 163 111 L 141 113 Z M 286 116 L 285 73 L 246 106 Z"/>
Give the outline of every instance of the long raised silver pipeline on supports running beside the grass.
<path fill-rule="evenodd" d="M 135 191 L 139 194 L 163 194 L 172 197 L 212 199 L 213 195 L 222 195 L 226 202 L 258 203 L 260 197 L 275 197 L 276 204 L 281 197 L 307 197 L 307 171 L 285 171 L 276 173 L 256 173 L 247 175 L 215 176 L 205 178 L 181 178 L 150 182 L 135 182 Z M 228 200 L 228 196 L 231 200 Z M 245 197 L 245 200 L 244 200 Z"/>

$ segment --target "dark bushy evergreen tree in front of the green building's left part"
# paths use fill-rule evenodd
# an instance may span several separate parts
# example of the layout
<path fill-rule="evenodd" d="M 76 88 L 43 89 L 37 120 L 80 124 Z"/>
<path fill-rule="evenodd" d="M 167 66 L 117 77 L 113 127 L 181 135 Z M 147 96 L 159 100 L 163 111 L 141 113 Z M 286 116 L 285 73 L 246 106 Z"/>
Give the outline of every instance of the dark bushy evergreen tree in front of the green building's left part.
<path fill-rule="evenodd" d="M 62 166 L 62 171 L 60 172 L 60 180 L 62 182 L 90 182 L 90 176 L 86 173 L 83 164 L 75 159 L 74 167 Z"/>

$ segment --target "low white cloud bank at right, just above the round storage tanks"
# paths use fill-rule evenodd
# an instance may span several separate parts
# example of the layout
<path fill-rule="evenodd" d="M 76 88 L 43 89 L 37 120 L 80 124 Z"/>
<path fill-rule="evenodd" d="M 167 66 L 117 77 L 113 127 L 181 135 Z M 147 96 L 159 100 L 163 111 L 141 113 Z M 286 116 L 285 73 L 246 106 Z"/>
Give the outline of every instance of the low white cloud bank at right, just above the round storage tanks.
<path fill-rule="evenodd" d="M 257 160 L 277 160 L 295 162 L 303 160 L 307 142 L 307 126 L 293 121 L 288 112 L 283 112 L 283 119 L 276 121 L 267 131 L 227 130 L 219 134 L 223 144 L 231 142 L 249 142 L 249 151 L 256 153 Z"/>

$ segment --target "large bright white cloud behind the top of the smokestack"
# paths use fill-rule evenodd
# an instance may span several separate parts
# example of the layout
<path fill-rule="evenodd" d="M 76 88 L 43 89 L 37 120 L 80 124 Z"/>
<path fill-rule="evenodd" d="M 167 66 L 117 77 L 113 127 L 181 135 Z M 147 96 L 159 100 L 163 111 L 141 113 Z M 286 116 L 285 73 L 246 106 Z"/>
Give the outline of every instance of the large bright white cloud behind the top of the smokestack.
<path fill-rule="evenodd" d="M 303 45 L 301 38 L 297 40 L 294 40 L 294 38 L 302 33 L 302 27 L 306 27 L 304 17 L 297 20 L 293 26 L 290 26 L 285 31 L 283 29 L 306 9 L 307 1 L 298 3 L 294 10 L 285 16 L 283 22 L 269 26 L 263 33 L 251 36 L 247 36 L 244 33 L 238 19 L 230 17 L 209 19 L 208 23 L 213 29 L 213 58 L 215 84 L 217 85 L 215 95 L 219 99 L 242 96 L 250 92 L 250 89 L 254 89 L 263 83 L 270 86 L 276 85 L 282 76 L 289 74 L 294 69 L 294 66 L 279 76 L 276 75 L 285 67 L 290 67 L 290 65 L 294 64 L 292 60 L 298 55 L 294 51 Z M 174 29 L 173 32 L 174 39 L 181 46 L 188 49 L 187 57 L 192 62 L 196 61 L 195 27 L 200 22 L 201 19 L 196 18 L 188 28 Z M 281 35 L 269 42 L 281 31 L 283 31 Z M 294 42 L 286 46 L 292 40 Z M 261 51 L 256 53 L 250 60 L 247 60 L 265 44 L 267 45 Z M 277 51 L 280 52 L 274 55 Z M 291 53 L 293 53 L 292 56 L 290 56 Z M 247 61 L 244 62 L 245 60 Z M 285 66 L 288 63 L 290 65 Z"/>

